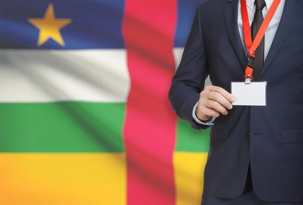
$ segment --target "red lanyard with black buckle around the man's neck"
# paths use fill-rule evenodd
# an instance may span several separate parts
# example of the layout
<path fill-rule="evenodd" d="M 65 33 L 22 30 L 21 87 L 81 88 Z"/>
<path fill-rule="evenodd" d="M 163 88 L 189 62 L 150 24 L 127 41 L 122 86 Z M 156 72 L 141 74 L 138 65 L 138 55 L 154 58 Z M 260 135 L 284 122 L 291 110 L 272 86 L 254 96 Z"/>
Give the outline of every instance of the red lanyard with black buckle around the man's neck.
<path fill-rule="evenodd" d="M 247 65 L 245 69 L 246 79 L 252 79 L 252 64 L 254 63 L 254 59 L 255 59 L 255 51 L 260 45 L 262 38 L 265 35 L 265 32 L 268 28 L 268 25 L 272 20 L 280 2 L 281 0 L 274 0 L 265 19 L 263 20 L 263 23 L 254 39 L 254 42 L 252 42 L 248 13 L 246 8 L 246 0 L 241 0 L 241 14 L 242 14 L 242 22 L 243 22 L 244 39 L 245 39 L 245 44 L 248 48 Z"/>

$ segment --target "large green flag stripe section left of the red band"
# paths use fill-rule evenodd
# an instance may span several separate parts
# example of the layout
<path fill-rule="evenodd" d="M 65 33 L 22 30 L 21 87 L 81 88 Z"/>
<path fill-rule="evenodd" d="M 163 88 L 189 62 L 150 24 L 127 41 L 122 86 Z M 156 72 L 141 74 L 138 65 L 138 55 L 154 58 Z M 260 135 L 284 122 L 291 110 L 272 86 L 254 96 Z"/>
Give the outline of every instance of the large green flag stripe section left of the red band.
<path fill-rule="evenodd" d="M 124 152 L 124 103 L 0 104 L 0 152 Z"/>

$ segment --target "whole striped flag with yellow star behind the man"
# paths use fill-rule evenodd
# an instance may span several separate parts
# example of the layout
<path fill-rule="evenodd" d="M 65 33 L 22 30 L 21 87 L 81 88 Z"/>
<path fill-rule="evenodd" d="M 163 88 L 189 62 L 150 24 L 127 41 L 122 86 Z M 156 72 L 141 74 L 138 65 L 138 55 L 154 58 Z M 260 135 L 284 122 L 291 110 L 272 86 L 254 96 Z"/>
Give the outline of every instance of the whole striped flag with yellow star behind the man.
<path fill-rule="evenodd" d="M 209 130 L 168 90 L 201 2 L 0 2 L 0 204 L 200 203 Z"/>

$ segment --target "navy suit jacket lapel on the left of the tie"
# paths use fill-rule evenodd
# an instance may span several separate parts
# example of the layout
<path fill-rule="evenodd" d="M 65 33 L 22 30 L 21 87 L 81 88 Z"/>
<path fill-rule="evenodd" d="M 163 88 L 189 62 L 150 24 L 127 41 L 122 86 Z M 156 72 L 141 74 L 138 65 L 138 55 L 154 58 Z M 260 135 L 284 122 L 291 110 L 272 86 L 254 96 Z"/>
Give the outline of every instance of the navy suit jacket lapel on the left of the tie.
<path fill-rule="evenodd" d="M 224 5 L 224 20 L 229 39 L 243 68 L 246 66 L 246 55 L 238 29 L 238 1 L 227 0 Z"/>

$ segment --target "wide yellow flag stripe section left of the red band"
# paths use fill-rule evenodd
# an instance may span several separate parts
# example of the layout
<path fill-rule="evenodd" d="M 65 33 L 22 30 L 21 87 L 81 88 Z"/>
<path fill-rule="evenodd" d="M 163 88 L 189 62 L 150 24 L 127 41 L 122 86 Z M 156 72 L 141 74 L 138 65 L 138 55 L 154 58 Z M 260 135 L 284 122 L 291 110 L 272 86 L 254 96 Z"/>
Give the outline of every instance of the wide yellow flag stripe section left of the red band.
<path fill-rule="evenodd" d="M 124 205 L 125 154 L 0 154 L 2 205 Z"/>

